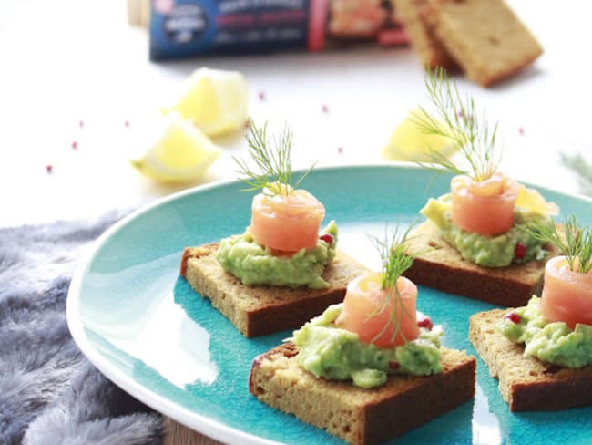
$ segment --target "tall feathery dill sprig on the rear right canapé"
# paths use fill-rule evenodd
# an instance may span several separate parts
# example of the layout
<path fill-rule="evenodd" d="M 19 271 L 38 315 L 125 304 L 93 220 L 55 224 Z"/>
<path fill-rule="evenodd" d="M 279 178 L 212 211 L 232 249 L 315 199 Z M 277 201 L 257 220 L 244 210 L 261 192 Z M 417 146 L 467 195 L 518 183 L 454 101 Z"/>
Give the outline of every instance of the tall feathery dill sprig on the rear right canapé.
<path fill-rule="evenodd" d="M 436 117 L 420 106 L 420 111 L 413 113 L 413 122 L 424 133 L 452 140 L 470 169 L 462 170 L 445 155 L 432 149 L 428 153 L 430 164 L 421 165 L 436 171 L 468 174 L 475 181 L 490 178 L 501 161 L 501 152 L 496 150 L 497 122 L 490 129 L 485 110 L 479 113 L 472 97 L 461 96 L 456 83 L 448 78 L 443 67 L 427 71 L 425 87 L 436 109 Z"/>

